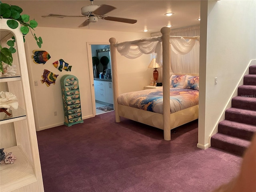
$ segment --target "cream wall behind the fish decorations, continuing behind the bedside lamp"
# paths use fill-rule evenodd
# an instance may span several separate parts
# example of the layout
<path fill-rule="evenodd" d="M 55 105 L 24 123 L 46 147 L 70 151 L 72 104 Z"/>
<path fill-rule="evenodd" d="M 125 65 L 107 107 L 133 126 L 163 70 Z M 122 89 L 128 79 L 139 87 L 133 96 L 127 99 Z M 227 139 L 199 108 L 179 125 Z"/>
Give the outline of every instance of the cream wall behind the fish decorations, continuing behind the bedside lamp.
<path fill-rule="evenodd" d="M 35 29 L 36 36 L 43 39 L 42 48 L 38 48 L 32 36 L 26 36 L 26 57 L 30 76 L 30 88 L 32 92 L 32 102 L 36 122 L 36 130 L 52 128 L 62 125 L 64 122 L 64 112 L 62 106 L 62 94 L 60 89 L 60 78 L 65 74 L 76 76 L 80 84 L 80 98 L 82 108 L 82 118 L 93 117 L 92 92 L 93 72 L 89 70 L 87 42 L 106 42 L 111 37 L 115 37 L 119 42 L 150 37 L 148 33 L 132 32 L 112 32 L 87 29 L 63 29 L 63 28 L 42 28 Z M 45 50 L 51 58 L 46 64 L 35 64 L 32 59 L 33 50 Z M 63 59 L 72 66 L 71 72 L 62 70 L 60 72 L 52 63 Z M 142 90 L 148 85 L 152 71 L 148 69 L 150 55 L 143 55 L 140 58 L 130 60 L 117 54 L 118 61 L 118 82 L 119 93 Z M 92 65 L 92 64 L 90 64 Z M 49 87 L 42 84 L 42 74 L 44 69 L 58 74 L 56 84 Z M 131 76 L 132 74 L 132 76 Z M 38 86 L 34 86 L 34 81 Z M 57 111 L 57 116 L 54 116 Z"/>

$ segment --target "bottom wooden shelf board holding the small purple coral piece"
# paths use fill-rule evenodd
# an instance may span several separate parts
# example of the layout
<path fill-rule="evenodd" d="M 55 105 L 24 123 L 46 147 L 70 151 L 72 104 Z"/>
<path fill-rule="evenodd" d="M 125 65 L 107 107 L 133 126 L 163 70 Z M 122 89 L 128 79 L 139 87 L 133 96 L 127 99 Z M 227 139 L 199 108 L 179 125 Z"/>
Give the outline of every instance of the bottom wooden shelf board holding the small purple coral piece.
<path fill-rule="evenodd" d="M 12 191 L 37 181 L 34 168 L 22 146 L 6 148 L 4 152 L 12 152 L 16 160 L 13 164 L 0 165 L 1 192 Z"/>

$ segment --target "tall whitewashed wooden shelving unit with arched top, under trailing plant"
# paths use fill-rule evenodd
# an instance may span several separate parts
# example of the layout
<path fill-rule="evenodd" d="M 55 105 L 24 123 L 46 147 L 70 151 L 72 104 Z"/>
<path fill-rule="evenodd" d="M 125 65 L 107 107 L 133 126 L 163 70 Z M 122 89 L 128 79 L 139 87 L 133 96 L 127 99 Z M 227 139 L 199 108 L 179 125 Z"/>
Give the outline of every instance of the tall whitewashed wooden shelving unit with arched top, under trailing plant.
<path fill-rule="evenodd" d="M 28 79 L 28 68 L 20 24 L 11 29 L 8 19 L 0 19 L 1 46 L 8 48 L 8 40 L 15 37 L 16 53 L 12 54 L 13 74 L 2 74 L 0 91 L 10 92 L 17 97 L 18 108 L 9 108 L 8 113 L 0 113 L 0 148 L 16 156 L 13 164 L 0 165 L 1 192 L 43 192 L 44 185 L 36 137 L 34 112 Z M 1 53 L 2 54 L 2 53 Z M 31 53 L 32 54 L 32 53 Z M 6 72 L 8 70 L 6 69 Z M 2 101 L 3 102 L 3 101 Z M 2 103 L 1 103 L 2 105 Z"/>

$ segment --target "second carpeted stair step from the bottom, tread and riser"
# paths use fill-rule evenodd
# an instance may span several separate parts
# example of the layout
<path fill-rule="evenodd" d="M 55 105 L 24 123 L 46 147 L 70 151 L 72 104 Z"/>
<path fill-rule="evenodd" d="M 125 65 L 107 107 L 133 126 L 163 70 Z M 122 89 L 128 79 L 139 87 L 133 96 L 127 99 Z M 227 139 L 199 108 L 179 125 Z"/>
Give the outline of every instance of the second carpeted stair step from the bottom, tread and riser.
<path fill-rule="evenodd" d="M 256 126 L 223 120 L 218 124 L 218 132 L 244 140 L 251 140 L 256 132 Z"/>

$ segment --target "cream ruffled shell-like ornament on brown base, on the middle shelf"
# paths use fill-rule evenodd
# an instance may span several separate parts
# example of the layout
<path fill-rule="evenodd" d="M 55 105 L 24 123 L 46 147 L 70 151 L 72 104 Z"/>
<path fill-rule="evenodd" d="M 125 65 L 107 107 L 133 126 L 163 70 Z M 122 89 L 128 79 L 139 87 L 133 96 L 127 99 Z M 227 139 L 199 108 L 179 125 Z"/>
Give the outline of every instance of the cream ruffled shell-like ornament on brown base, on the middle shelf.
<path fill-rule="evenodd" d="M 0 108 L 1 112 L 5 112 L 8 116 L 12 115 L 8 110 L 18 109 L 18 100 L 16 95 L 10 92 L 0 91 Z"/>

